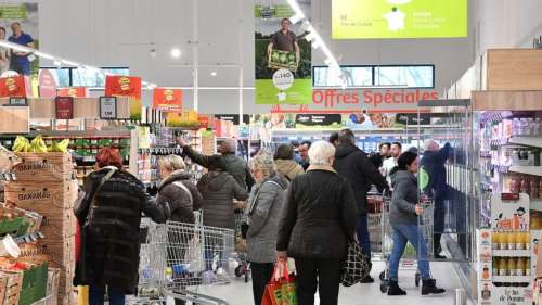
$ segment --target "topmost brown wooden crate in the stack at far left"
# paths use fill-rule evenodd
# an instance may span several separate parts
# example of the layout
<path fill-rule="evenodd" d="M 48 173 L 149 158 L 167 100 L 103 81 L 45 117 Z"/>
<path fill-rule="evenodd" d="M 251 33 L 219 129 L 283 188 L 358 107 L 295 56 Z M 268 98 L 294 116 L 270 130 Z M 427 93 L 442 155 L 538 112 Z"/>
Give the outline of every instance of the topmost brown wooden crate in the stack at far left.
<path fill-rule="evenodd" d="M 12 169 L 18 181 L 70 180 L 74 173 L 69 153 L 16 153 L 23 162 Z"/>

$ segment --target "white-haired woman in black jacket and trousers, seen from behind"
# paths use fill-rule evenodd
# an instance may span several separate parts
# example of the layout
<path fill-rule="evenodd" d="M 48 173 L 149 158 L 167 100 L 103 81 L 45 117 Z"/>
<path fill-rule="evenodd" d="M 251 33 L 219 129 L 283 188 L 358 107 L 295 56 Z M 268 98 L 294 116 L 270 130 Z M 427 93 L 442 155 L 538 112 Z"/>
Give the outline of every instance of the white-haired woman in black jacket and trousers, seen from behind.
<path fill-rule="evenodd" d="M 299 305 L 338 304 L 340 269 L 348 241 L 357 228 L 358 212 L 348 181 L 333 169 L 335 147 L 325 141 L 309 149 L 307 174 L 289 185 L 279 221 L 279 259 L 293 257 Z"/>

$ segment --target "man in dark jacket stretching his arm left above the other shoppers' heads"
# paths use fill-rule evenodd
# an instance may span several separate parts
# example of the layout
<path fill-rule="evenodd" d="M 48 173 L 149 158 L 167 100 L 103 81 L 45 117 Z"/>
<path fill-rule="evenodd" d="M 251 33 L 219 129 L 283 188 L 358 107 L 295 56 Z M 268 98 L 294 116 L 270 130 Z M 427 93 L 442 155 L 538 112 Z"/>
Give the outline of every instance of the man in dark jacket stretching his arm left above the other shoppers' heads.
<path fill-rule="evenodd" d="M 190 157 L 193 162 L 203 167 L 209 167 L 209 156 L 194 151 L 183 139 L 179 140 L 182 147 L 183 156 Z M 253 176 L 248 170 L 246 162 L 235 155 L 237 143 L 234 139 L 225 139 L 220 143 L 219 152 L 225 163 L 225 171 L 235 178 L 235 181 L 245 190 L 250 190 L 254 186 Z"/>

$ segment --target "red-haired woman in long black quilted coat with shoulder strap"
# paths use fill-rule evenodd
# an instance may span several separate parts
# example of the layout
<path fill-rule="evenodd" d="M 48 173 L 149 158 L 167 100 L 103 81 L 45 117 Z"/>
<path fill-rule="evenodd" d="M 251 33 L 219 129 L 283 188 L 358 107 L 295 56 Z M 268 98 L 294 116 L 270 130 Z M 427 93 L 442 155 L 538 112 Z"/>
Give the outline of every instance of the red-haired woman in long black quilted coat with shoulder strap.
<path fill-rule="evenodd" d="M 168 205 L 156 204 L 138 178 L 121 169 L 117 150 L 102 149 L 96 161 L 100 169 L 87 176 L 74 208 L 82 225 L 74 283 L 90 287 L 92 305 L 104 303 L 106 288 L 109 304 L 119 305 L 125 304 L 126 294 L 137 293 L 141 213 L 165 223 L 170 212 Z M 109 173 L 113 176 L 98 190 Z"/>

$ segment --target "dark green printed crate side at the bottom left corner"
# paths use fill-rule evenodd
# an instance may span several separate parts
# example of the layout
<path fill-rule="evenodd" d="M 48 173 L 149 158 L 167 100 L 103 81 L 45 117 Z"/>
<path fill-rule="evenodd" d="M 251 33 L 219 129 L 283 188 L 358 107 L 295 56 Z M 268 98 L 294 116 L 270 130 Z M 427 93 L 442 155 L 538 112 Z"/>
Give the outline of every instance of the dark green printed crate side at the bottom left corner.
<path fill-rule="evenodd" d="M 36 265 L 23 275 L 23 284 L 18 305 L 31 305 L 47 296 L 49 264 Z"/>

